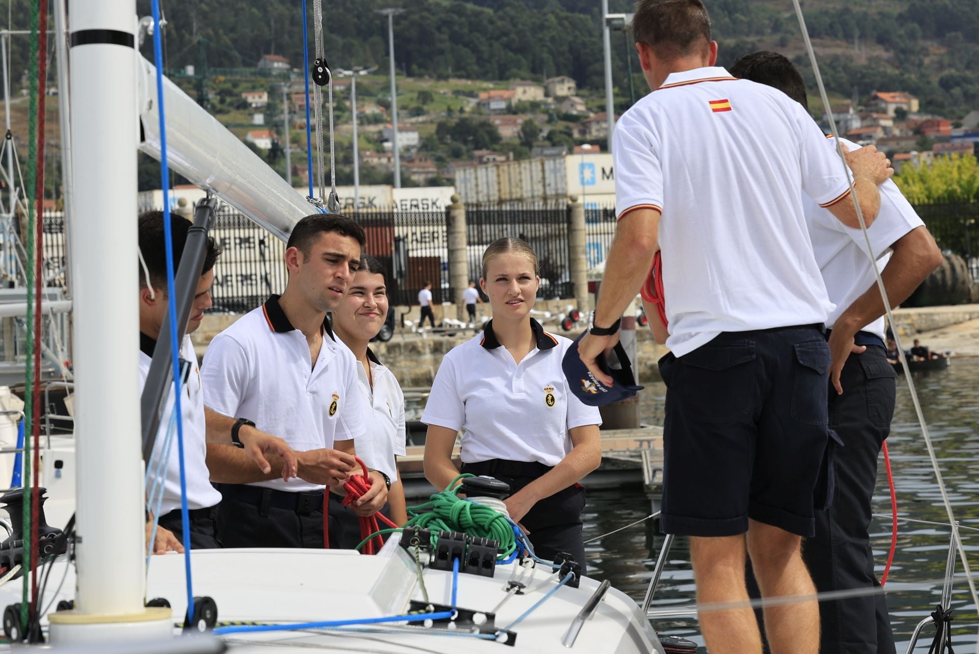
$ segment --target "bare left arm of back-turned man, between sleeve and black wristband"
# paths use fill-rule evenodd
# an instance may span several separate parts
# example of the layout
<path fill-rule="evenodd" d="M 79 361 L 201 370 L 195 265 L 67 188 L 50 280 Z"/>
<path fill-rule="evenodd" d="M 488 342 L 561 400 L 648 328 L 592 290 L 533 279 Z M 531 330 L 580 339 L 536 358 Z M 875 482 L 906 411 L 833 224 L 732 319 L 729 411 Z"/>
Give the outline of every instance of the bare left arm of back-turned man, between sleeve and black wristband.
<path fill-rule="evenodd" d="M 634 210 L 620 220 L 606 257 L 609 265 L 605 268 L 598 293 L 595 325 L 612 325 L 622 317 L 639 292 L 653 264 L 653 256 L 659 249 L 659 215 L 656 210 Z"/>

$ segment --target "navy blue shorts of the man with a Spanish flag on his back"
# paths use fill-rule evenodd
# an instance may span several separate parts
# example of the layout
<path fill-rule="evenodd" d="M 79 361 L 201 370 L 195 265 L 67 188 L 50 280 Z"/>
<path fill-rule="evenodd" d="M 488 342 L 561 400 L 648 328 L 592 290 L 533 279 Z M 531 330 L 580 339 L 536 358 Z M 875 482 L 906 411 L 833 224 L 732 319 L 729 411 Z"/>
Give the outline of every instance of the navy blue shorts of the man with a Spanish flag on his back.
<path fill-rule="evenodd" d="M 668 389 L 663 532 L 736 536 L 751 518 L 813 536 L 814 504 L 831 477 L 820 329 L 725 332 L 659 365 Z"/>

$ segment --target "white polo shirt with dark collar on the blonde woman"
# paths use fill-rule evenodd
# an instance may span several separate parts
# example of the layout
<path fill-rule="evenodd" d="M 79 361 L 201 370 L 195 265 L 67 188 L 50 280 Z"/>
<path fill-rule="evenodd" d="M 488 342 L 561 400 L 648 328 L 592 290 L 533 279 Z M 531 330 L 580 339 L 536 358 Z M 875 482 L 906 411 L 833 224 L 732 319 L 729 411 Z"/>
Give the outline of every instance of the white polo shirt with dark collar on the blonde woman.
<path fill-rule="evenodd" d="M 422 422 L 463 430 L 462 462 L 537 461 L 555 466 L 571 451 L 570 429 L 600 425 L 598 408 L 568 389 L 561 368 L 572 341 L 531 319 L 536 348 L 518 364 L 490 320 L 483 334 L 449 350 Z"/>

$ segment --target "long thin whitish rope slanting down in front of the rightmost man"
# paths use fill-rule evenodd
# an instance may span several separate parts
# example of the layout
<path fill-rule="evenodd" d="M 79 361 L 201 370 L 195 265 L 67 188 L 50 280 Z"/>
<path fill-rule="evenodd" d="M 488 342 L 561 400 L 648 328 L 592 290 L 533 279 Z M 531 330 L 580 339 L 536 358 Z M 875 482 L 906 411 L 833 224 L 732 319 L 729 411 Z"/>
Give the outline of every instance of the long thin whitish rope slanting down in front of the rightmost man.
<path fill-rule="evenodd" d="M 850 193 L 853 199 L 854 205 L 857 208 L 857 219 L 860 221 L 861 231 L 863 233 L 863 240 L 866 244 L 866 253 L 870 257 L 871 261 L 876 261 L 876 257 L 873 255 L 873 249 L 870 246 L 870 237 L 866 231 L 866 222 L 863 220 L 863 212 L 861 210 L 860 202 L 857 198 L 857 190 L 854 188 L 853 180 L 850 178 L 850 170 L 847 166 L 846 157 L 843 153 L 843 144 L 840 142 L 840 135 L 836 129 L 836 120 L 833 119 L 833 113 L 830 110 L 829 98 L 826 95 L 826 87 L 822 83 L 822 75 L 819 73 L 819 65 L 816 63 L 816 52 L 813 49 L 813 42 L 809 38 L 809 30 L 806 28 L 806 19 L 802 15 L 802 7 L 799 5 L 799 0 L 792 0 L 792 4 L 795 7 L 796 16 L 799 19 L 799 27 L 802 30 L 802 36 L 806 43 L 806 50 L 809 53 L 810 62 L 813 65 L 813 72 L 816 74 L 816 84 L 819 87 L 819 97 L 822 99 L 823 109 L 826 116 L 829 118 L 829 128 L 833 134 L 833 139 L 836 142 L 836 151 L 840 156 L 840 163 L 844 167 L 844 174 L 850 184 Z M 892 331 L 894 332 L 894 341 L 898 346 L 899 351 L 903 351 L 904 348 L 901 345 L 901 338 L 898 334 L 898 329 L 896 327 L 896 322 L 894 321 L 894 313 L 891 311 L 891 303 L 887 298 L 887 289 L 884 288 L 884 280 L 880 276 L 880 270 L 874 264 L 871 266 L 874 271 L 874 277 L 877 280 L 877 288 L 880 291 L 881 300 L 884 302 L 884 310 L 887 313 L 887 320 L 891 325 Z M 928 425 L 924 419 L 924 413 L 921 410 L 921 402 L 918 400 L 917 391 L 914 389 L 914 382 L 911 378 L 908 360 L 906 357 L 902 356 L 901 363 L 904 366 L 905 378 L 908 380 L 908 388 L 911 394 L 911 402 L 914 404 L 914 412 L 917 414 L 918 423 L 921 425 L 921 436 L 924 437 L 924 444 L 928 450 L 928 458 L 931 459 L 931 467 L 935 472 L 935 480 L 938 483 L 938 490 L 942 493 L 942 503 L 945 505 L 946 514 L 949 517 L 949 523 L 951 529 L 955 534 L 956 540 L 956 550 L 958 551 L 958 558 L 962 563 L 962 569 L 965 572 L 965 580 L 969 585 L 969 592 L 972 594 L 972 601 L 977 610 L 979 610 L 979 592 L 976 591 L 975 581 L 972 579 L 972 571 L 969 568 L 968 558 L 965 556 L 965 549 L 962 547 L 961 538 L 958 537 L 958 525 L 956 524 L 955 512 L 952 509 L 952 501 L 949 499 L 949 493 L 945 488 L 945 481 L 942 479 L 942 471 L 938 465 L 938 457 L 935 455 L 935 447 L 931 442 L 931 436 L 928 434 Z M 976 639 L 976 654 L 979 654 L 979 638 Z"/>

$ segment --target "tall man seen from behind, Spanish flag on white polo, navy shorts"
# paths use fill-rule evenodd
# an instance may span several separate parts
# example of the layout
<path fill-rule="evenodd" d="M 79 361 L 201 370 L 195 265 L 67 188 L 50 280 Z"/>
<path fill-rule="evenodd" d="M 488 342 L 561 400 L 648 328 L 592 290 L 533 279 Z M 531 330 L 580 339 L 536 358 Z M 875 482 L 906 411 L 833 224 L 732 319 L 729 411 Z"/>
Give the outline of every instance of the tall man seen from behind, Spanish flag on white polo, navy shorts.
<path fill-rule="evenodd" d="M 700 604 L 748 599 L 746 549 L 763 596 L 811 594 L 800 545 L 814 532 L 829 440 L 822 323 L 832 304 L 802 192 L 857 226 L 848 173 L 797 103 L 714 68 L 699 0 L 641 0 L 632 31 L 654 91 L 616 127 L 620 221 L 596 329 L 579 350 L 611 383 L 595 357 L 662 245 L 673 350 L 660 362 L 669 389 L 662 528 L 690 537 Z M 854 167 L 872 222 L 877 184 L 892 171 L 869 150 Z M 767 608 L 772 651 L 814 654 L 818 619 L 815 600 Z M 702 611 L 700 625 L 712 654 L 762 651 L 747 604 Z"/>

